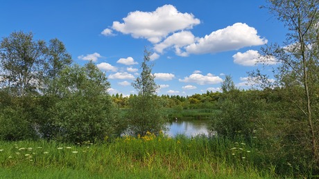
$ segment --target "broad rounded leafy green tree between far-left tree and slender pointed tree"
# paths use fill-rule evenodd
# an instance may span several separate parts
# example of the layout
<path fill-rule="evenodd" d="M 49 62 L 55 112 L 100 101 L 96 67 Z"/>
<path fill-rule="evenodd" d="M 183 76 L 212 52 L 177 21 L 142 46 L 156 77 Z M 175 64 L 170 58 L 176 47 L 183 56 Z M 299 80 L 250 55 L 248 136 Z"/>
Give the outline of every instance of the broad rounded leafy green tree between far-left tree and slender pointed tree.
<path fill-rule="evenodd" d="M 55 126 L 58 140 L 83 142 L 103 140 L 117 131 L 114 104 L 107 88 L 105 74 L 89 62 L 84 67 L 74 65 L 62 70 L 58 82 L 62 97 L 55 104 Z"/>

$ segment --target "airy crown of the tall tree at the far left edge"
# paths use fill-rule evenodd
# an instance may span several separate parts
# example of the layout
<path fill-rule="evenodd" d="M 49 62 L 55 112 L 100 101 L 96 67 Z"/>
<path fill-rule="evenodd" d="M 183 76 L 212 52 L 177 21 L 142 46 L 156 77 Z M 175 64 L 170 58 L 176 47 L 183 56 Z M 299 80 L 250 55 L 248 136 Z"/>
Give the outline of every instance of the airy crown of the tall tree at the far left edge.
<path fill-rule="evenodd" d="M 34 41 L 31 32 L 12 32 L 0 48 L 1 85 L 18 96 L 35 92 L 42 81 L 45 42 Z"/>

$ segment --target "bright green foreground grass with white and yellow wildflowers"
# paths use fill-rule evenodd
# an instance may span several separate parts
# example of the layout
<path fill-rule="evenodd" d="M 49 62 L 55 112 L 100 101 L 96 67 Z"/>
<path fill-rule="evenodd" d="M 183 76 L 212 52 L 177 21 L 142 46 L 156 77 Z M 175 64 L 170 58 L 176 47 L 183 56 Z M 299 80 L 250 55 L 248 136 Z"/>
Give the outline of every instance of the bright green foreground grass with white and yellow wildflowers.
<path fill-rule="evenodd" d="M 236 149 L 234 149 L 236 148 Z M 103 144 L 0 141 L 0 178 L 275 178 L 246 144 L 152 133 Z"/>

